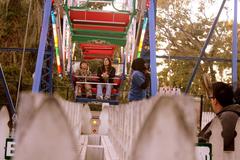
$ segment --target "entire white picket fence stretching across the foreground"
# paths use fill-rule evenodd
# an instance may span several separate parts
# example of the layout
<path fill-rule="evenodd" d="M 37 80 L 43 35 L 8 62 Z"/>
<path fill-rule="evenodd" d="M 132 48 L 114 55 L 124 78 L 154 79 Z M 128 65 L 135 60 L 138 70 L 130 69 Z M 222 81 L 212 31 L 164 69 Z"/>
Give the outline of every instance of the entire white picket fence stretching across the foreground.
<path fill-rule="evenodd" d="M 23 94 L 18 108 L 15 160 L 91 160 L 98 155 L 104 159 L 103 154 L 107 160 L 202 160 L 195 156 L 198 120 L 193 106 L 196 101 L 191 97 L 162 95 L 106 106 L 100 115 L 99 134 L 103 135 L 86 137 L 91 132 L 87 105 L 41 94 Z M 213 113 L 203 113 L 202 124 L 213 117 Z M 9 134 L 6 107 L 1 109 L 0 121 L 3 148 Z M 218 118 L 214 118 L 210 128 L 212 160 L 239 160 L 239 134 L 235 151 L 223 151 Z M 240 120 L 236 131 L 240 133 Z M 92 141 L 98 143 L 93 145 Z M 0 156 L 4 159 L 4 150 L 0 150 Z"/>

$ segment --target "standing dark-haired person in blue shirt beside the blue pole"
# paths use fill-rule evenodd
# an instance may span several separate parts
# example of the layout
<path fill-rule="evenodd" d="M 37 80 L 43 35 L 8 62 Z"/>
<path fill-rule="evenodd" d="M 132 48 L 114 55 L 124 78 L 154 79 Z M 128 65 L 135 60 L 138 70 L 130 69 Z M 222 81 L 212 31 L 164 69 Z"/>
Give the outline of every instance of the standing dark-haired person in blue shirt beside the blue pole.
<path fill-rule="evenodd" d="M 146 89 L 150 83 L 150 73 L 142 58 L 133 60 L 131 75 L 131 88 L 128 94 L 129 101 L 138 101 L 146 98 Z"/>

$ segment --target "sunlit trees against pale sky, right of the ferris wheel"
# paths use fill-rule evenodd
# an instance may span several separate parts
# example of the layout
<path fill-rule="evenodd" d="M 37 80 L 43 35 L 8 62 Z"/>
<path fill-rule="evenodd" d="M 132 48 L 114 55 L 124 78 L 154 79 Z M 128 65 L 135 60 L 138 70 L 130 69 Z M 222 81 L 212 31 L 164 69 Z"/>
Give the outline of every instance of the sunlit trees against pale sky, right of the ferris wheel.
<path fill-rule="evenodd" d="M 207 34 L 212 25 L 214 16 L 209 16 L 207 7 L 214 1 L 198 1 L 199 6 L 192 10 L 191 6 L 196 6 L 197 2 L 168 1 L 158 4 L 157 16 L 157 40 L 158 45 L 169 56 L 199 56 L 200 50 L 206 40 Z M 193 4 L 194 3 L 194 4 Z M 216 3 L 216 2 L 215 2 Z M 216 10 L 217 12 L 217 10 Z M 206 50 L 206 57 L 222 57 L 231 59 L 231 28 L 232 22 L 219 21 L 217 28 L 211 38 Z M 190 80 L 192 70 L 196 61 L 164 60 L 167 67 L 159 73 L 160 86 L 169 85 L 180 87 L 185 90 Z M 222 62 L 202 62 L 201 68 L 193 81 L 190 94 L 203 94 L 201 86 L 202 73 L 209 73 L 213 81 L 218 76 L 223 77 L 226 68 L 231 68 L 231 63 Z M 221 80 L 221 79 L 220 79 Z M 229 78 L 227 79 L 229 80 Z"/>

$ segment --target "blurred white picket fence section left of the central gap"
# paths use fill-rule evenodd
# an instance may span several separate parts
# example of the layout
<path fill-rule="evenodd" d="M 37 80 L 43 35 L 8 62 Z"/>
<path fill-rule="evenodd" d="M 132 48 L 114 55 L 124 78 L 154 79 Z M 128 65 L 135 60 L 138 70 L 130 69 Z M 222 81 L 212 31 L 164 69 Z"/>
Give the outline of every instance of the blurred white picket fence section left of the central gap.
<path fill-rule="evenodd" d="M 77 160 L 81 134 L 90 133 L 87 105 L 43 94 L 22 94 L 18 109 L 15 160 Z"/>

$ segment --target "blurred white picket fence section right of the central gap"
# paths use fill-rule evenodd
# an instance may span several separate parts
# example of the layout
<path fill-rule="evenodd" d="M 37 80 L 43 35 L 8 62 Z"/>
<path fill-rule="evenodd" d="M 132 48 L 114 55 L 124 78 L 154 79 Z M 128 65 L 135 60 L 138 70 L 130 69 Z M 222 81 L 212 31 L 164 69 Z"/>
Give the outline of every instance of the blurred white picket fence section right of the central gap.
<path fill-rule="evenodd" d="M 193 160 L 196 116 L 189 97 L 110 107 L 109 137 L 121 160 Z"/>

